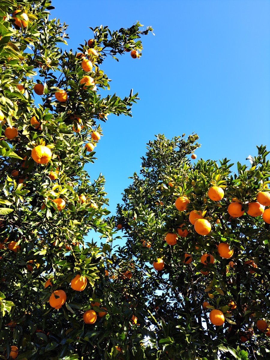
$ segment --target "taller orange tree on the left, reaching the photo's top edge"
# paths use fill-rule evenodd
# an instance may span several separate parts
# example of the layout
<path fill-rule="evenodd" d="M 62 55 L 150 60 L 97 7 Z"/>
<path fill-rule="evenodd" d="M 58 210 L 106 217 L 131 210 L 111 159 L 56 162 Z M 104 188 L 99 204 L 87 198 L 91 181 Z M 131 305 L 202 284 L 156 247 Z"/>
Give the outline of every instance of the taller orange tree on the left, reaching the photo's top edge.
<path fill-rule="evenodd" d="M 100 67 L 108 55 L 139 57 L 152 29 L 99 27 L 79 53 L 62 51 L 67 26 L 50 9 L 49 0 L 0 4 L 0 357 L 111 359 L 131 339 L 132 314 L 104 272 L 106 244 L 84 243 L 89 229 L 110 238 L 113 224 L 103 176 L 90 182 L 83 168 L 100 121 L 131 116 L 137 99 L 103 98 Z"/>

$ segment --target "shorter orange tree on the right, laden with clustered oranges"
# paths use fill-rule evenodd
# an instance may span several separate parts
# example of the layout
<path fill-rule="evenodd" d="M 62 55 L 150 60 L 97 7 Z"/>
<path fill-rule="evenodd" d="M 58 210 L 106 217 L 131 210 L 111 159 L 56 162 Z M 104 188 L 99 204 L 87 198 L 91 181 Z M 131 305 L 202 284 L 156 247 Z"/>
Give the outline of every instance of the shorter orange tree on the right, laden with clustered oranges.
<path fill-rule="evenodd" d="M 268 152 L 235 174 L 226 158 L 191 162 L 197 139 L 149 142 L 117 208 L 118 261 L 136 264 L 134 315 L 150 329 L 142 357 L 268 359 Z"/>

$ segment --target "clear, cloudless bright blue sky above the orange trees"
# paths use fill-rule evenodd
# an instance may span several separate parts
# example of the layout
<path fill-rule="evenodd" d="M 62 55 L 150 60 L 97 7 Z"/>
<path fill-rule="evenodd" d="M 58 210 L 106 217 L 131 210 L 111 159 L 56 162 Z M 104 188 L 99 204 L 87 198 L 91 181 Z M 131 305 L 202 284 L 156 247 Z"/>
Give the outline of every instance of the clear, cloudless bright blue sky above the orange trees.
<path fill-rule="evenodd" d="M 145 144 L 154 135 L 199 135 L 203 159 L 246 162 L 256 145 L 270 149 L 270 1 L 53 0 L 51 13 L 69 24 L 68 49 L 92 37 L 89 27 L 111 30 L 140 21 L 152 26 L 143 56 L 106 60 L 109 93 L 139 92 L 133 118 L 109 116 L 86 170 L 105 176 L 114 212 L 129 176 L 140 170 Z"/>

